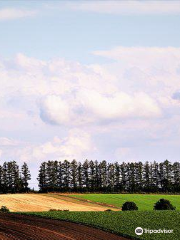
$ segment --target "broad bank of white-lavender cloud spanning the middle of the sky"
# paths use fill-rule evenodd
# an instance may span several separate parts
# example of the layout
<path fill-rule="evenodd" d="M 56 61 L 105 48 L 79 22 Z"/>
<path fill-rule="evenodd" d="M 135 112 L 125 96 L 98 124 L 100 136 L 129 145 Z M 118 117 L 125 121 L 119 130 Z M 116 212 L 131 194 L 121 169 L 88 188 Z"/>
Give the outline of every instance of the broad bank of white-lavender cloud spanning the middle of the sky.
<path fill-rule="evenodd" d="M 3 105 L 17 103 L 21 113 L 39 113 L 46 123 L 69 127 L 160 117 L 180 87 L 179 53 L 179 48 L 124 47 L 95 52 L 117 61 L 105 66 L 18 54 L 0 61 Z"/>

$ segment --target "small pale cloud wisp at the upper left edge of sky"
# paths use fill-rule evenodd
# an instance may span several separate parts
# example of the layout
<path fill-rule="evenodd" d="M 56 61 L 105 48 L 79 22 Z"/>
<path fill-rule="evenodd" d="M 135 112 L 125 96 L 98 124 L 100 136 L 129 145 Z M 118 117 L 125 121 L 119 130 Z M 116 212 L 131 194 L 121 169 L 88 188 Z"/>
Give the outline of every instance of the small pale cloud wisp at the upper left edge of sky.
<path fill-rule="evenodd" d="M 0 21 L 13 20 L 25 17 L 35 16 L 37 11 L 18 9 L 18 8 L 2 8 L 0 9 Z"/>

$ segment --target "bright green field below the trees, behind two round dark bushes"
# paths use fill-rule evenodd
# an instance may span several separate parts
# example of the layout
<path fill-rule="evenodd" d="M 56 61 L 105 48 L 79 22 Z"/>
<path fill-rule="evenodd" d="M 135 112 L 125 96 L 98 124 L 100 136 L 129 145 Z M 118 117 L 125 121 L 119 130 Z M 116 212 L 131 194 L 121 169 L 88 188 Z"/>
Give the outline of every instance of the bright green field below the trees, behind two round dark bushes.
<path fill-rule="evenodd" d="M 154 203 L 160 198 L 168 199 L 180 210 L 180 195 L 152 195 L 152 194 L 77 194 L 71 195 L 76 198 L 90 200 L 93 202 L 105 203 L 122 207 L 126 201 L 133 201 L 137 204 L 139 210 L 153 210 Z"/>

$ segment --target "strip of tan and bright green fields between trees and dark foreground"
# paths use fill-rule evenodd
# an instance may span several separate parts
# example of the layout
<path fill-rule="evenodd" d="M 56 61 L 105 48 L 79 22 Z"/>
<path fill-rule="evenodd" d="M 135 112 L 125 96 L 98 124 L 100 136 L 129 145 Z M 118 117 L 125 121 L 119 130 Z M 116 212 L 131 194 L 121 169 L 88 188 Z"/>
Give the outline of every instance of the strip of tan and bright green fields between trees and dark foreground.
<path fill-rule="evenodd" d="M 4 194 L 0 196 L 0 206 L 7 206 L 11 212 L 104 211 L 107 208 L 119 211 L 125 201 L 134 201 L 140 211 L 150 211 L 160 198 L 169 199 L 180 210 L 180 195 L 151 194 Z"/>

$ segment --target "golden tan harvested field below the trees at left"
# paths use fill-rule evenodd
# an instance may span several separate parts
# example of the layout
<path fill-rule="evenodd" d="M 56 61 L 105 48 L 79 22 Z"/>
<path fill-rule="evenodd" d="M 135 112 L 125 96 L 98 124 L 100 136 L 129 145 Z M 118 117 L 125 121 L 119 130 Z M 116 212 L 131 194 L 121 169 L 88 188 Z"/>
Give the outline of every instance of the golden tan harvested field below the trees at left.
<path fill-rule="evenodd" d="M 0 206 L 11 212 L 48 211 L 68 209 L 70 211 L 104 211 L 107 207 L 79 201 L 60 194 L 4 194 L 0 195 Z"/>

